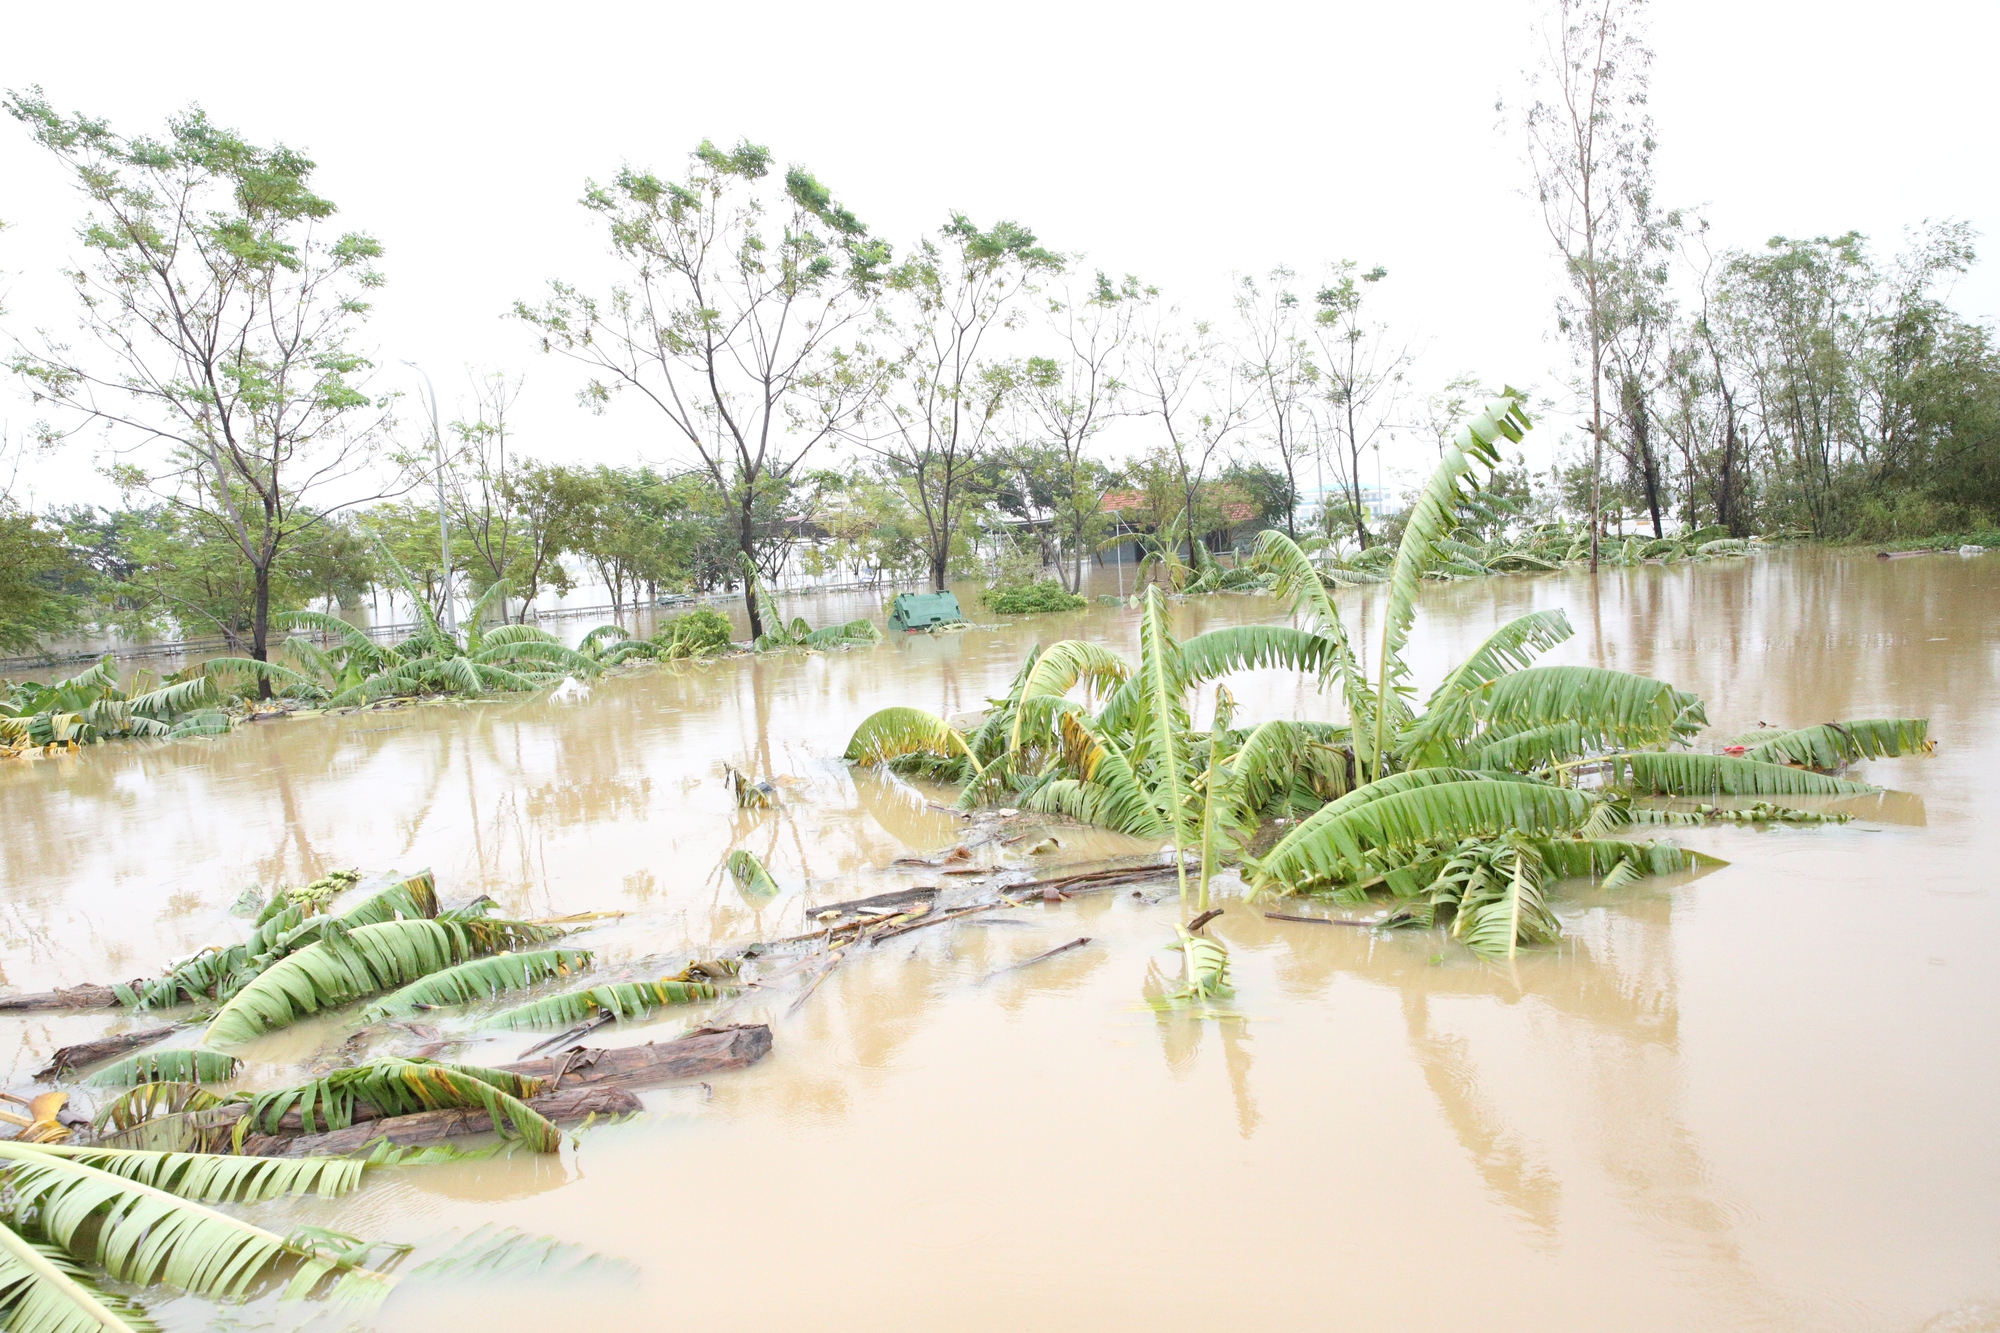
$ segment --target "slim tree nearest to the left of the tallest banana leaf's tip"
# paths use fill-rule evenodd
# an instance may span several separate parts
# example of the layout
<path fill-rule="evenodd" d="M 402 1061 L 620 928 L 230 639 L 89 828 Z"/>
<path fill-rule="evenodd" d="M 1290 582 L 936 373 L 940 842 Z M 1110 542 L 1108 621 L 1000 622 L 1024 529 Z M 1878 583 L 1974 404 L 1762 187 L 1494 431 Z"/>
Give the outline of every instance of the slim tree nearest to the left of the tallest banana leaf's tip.
<path fill-rule="evenodd" d="M 1328 434 L 1340 444 L 1334 474 L 1346 488 L 1354 540 L 1368 548 L 1368 506 L 1362 502 L 1362 452 L 1380 448 L 1396 410 L 1410 350 L 1388 340 L 1388 326 L 1362 318 L 1366 290 L 1388 276 L 1376 264 L 1360 272 L 1354 260 L 1340 260 L 1314 296 L 1318 306 L 1312 332 L 1324 368 L 1322 404 L 1332 424 Z M 1324 496 L 1322 496 L 1324 506 Z"/>

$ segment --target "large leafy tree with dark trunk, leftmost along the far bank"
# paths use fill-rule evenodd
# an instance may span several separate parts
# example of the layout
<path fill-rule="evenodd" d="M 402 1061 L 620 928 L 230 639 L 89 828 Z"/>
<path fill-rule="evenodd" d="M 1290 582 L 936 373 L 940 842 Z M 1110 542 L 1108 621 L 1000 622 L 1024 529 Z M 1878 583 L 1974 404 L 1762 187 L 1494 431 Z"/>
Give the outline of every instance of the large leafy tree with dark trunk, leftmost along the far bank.
<path fill-rule="evenodd" d="M 118 478 L 234 548 L 250 656 L 268 660 L 272 580 L 290 544 L 380 490 L 366 478 L 386 406 L 352 338 L 382 284 L 382 246 L 332 232 L 314 164 L 190 108 L 166 138 L 126 138 L 10 94 L 88 200 L 72 274 L 90 352 L 42 340 L 14 358 L 38 400 L 148 450 Z M 164 450 L 164 452 L 162 452 Z M 268 677 L 258 689 L 270 695 Z"/>

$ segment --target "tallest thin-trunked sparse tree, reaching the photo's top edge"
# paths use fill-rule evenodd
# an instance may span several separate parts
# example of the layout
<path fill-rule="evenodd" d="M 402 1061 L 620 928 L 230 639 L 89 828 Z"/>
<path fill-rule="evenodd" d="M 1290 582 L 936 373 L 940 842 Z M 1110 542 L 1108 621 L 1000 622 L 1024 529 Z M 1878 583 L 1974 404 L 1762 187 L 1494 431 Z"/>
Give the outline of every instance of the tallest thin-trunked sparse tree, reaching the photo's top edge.
<path fill-rule="evenodd" d="M 1536 96 L 1522 118 L 1542 222 L 1570 282 L 1558 318 L 1590 374 L 1592 572 L 1604 526 L 1606 266 L 1630 186 L 1646 176 L 1652 156 L 1644 112 L 1652 52 L 1638 32 L 1642 10 L 1644 0 L 1548 0 Z"/>

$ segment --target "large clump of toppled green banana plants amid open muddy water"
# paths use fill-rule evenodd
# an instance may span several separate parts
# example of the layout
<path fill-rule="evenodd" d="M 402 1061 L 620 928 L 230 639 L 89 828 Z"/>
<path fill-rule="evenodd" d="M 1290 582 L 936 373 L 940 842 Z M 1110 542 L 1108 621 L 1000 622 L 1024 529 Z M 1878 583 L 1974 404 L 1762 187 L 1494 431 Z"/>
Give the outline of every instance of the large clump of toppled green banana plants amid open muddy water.
<path fill-rule="evenodd" d="M 1690 751 L 1708 727 L 1698 697 L 1624 671 L 1536 662 L 1572 634 L 1554 608 L 1500 624 L 1418 711 L 1404 662 L 1418 596 L 1452 562 L 1488 558 L 1466 540 L 1468 522 L 1490 524 L 1500 508 L 1480 474 L 1528 424 L 1520 394 L 1490 402 L 1446 450 L 1396 548 L 1362 552 L 1352 568 L 1264 532 L 1254 570 L 1286 624 L 1176 638 L 1154 580 L 1136 664 L 1078 640 L 1036 648 L 970 737 L 918 709 L 884 709 L 846 757 L 962 783 L 960 809 L 1016 805 L 1170 843 L 1184 903 L 1190 851 L 1204 905 L 1214 867 L 1240 857 L 1256 897 L 1390 893 L 1402 899 L 1400 921 L 1448 909 L 1458 939 L 1504 955 L 1554 937 L 1544 883 L 1590 875 L 1616 887 L 1700 865 L 1678 851 L 1600 863 L 1604 835 L 1628 823 L 1704 819 L 1632 797 L 1842 797 L 1874 791 L 1840 777 L 1844 765 L 1930 749 L 1922 719 L 1882 719 L 1760 735 L 1736 753 Z M 1572 538 L 1534 540 L 1540 550 Z M 1388 584 L 1378 644 L 1356 642 L 1334 602 L 1334 588 L 1360 576 Z M 1308 677 L 1344 705 L 1346 723 L 1236 729 L 1224 711 L 1194 731 L 1194 691 L 1252 669 Z M 1294 819 L 1262 855 L 1242 851 L 1260 827 Z M 1434 887 L 1442 897 L 1430 903 Z M 1460 903 L 1470 907 L 1460 913 Z"/>

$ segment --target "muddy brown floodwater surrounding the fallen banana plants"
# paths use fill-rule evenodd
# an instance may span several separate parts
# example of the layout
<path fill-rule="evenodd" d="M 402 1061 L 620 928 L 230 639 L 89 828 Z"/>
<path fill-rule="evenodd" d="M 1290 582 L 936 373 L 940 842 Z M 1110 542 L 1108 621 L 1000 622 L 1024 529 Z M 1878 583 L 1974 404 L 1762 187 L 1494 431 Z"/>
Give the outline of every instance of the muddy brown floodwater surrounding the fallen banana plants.
<path fill-rule="evenodd" d="M 1688 829 L 1730 861 L 1562 893 L 1566 939 L 1512 965 L 1432 935 L 1212 927 L 1236 1019 L 1158 1015 L 1172 897 L 1130 889 L 994 913 L 796 977 L 732 1011 L 774 1053 L 558 1159 L 382 1169 L 342 1203 L 260 1205 L 420 1245 L 518 1227 L 600 1263 L 410 1279 L 366 1325 L 816 1329 L 2000 1329 L 2000 558 L 1782 552 L 1488 578 L 1426 590 L 1426 683 L 1496 622 L 1564 606 L 1554 662 L 1694 689 L 1718 733 L 1930 717 L 1936 755 L 1866 765 L 1884 799 L 1824 829 Z M 1368 596 L 1344 598 L 1366 618 Z M 788 614 L 794 608 L 788 608 Z M 866 604 L 800 606 L 812 622 Z M 1176 608 L 1182 632 L 1276 618 L 1268 598 Z M 0 771 L 4 981 L 154 971 L 244 925 L 246 885 L 424 867 L 446 901 L 624 911 L 606 959 L 802 929 L 804 907 L 910 883 L 892 859 L 964 825 L 838 755 L 886 705 L 978 709 L 1022 652 L 1136 616 L 1090 606 L 870 650 L 648 669 L 582 707 L 426 707 L 240 729 L 216 743 Z M 1334 717 L 1280 673 L 1238 717 Z M 1202 707 L 1206 717 L 1206 701 Z M 782 803 L 738 813 L 722 765 Z M 1148 853 L 1056 831 L 1042 869 Z M 764 857 L 756 907 L 720 873 Z M 950 883 L 950 881 L 946 881 Z M 980 919 L 974 919 L 980 921 Z M 1090 945 L 994 975 L 1058 943 Z M 612 1041 L 672 1035 L 670 1013 Z M 102 1015 L 0 1027 L 6 1085 Z M 450 1029 L 450 1023 L 446 1023 Z M 462 1021 L 454 1031 L 472 1031 Z M 250 1083 L 342 1029 L 252 1047 Z M 504 1061 L 526 1039 L 474 1039 Z M 176 1329 L 216 1307 L 158 1307 Z M 230 1327 L 292 1327 L 260 1301 Z M 350 1327 L 328 1311 L 314 1327 Z"/>

